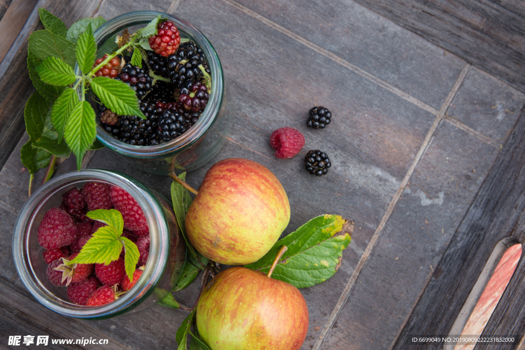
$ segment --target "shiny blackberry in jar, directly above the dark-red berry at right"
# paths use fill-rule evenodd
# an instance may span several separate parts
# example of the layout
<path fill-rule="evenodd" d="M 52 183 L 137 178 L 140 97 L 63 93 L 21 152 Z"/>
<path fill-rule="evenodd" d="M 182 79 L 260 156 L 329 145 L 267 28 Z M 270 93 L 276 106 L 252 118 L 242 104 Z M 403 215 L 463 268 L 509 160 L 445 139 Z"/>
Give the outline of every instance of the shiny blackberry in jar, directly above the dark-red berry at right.
<path fill-rule="evenodd" d="M 200 65 L 208 74 L 210 73 L 202 49 L 193 41 L 182 44 L 175 54 L 167 57 L 167 69 L 170 72 L 172 85 L 180 87 L 187 80 L 202 79 L 203 74 L 198 68 Z"/>

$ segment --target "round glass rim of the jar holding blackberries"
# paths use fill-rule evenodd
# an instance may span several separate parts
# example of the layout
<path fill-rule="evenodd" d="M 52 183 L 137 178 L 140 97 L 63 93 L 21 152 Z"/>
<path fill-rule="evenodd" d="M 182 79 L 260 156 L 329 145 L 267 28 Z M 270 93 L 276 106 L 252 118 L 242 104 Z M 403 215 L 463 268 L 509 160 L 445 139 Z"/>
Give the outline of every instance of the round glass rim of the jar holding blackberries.
<path fill-rule="evenodd" d="M 211 71 L 212 89 L 206 108 L 198 121 L 188 131 L 170 142 L 155 146 L 130 145 L 115 139 L 97 124 L 97 139 L 104 146 L 119 154 L 136 158 L 166 157 L 173 153 L 182 152 L 187 149 L 187 147 L 193 145 L 200 140 L 215 123 L 224 99 L 224 76 L 217 52 L 201 31 L 183 19 L 166 13 L 149 10 L 129 12 L 110 19 L 95 30 L 93 36 L 95 36 L 97 45 L 99 45 L 104 39 L 107 40 L 111 38 L 118 31 L 133 25 L 147 24 L 157 16 L 171 20 L 181 32 L 181 37 L 185 34 L 201 47 Z M 78 75 L 80 73 L 78 65 L 75 70 Z M 81 96 L 81 89 L 78 88 L 77 91 L 79 96 Z"/>

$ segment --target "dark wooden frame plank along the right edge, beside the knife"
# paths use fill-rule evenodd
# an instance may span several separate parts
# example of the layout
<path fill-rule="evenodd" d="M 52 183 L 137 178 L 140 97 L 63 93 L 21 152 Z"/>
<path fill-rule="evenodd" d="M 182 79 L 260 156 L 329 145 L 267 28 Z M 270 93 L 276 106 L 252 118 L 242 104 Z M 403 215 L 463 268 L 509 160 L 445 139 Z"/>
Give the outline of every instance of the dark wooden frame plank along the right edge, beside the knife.
<path fill-rule="evenodd" d="M 525 210 L 524 130 L 522 110 L 509 140 L 434 270 L 394 349 L 404 349 L 409 335 L 446 335 L 497 243 L 512 235 L 519 238 L 521 232 L 514 228 Z M 513 279 L 510 285 L 515 283 Z M 512 293 L 521 295 L 524 290 L 521 284 Z M 499 308 L 498 305 L 496 310 L 501 312 Z M 508 322 L 516 320 L 517 326 L 522 326 L 525 320 L 518 318 L 519 313 L 519 308 L 509 310 Z M 421 344 L 413 348 L 437 349 L 439 346 Z"/>

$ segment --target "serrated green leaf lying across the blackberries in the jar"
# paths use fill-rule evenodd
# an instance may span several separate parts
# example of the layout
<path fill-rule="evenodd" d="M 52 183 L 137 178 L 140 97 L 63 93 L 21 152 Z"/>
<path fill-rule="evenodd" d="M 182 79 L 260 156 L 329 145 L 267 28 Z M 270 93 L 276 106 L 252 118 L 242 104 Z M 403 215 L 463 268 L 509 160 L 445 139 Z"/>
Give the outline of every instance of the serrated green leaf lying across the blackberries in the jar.
<path fill-rule="evenodd" d="M 114 113 L 137 115 L 146 119 L 139 109 L 139 100 L 135 92 L 128 84 L 107 77 L 97 77 L 91 80 L 91 88 L 100 101 Z"/>

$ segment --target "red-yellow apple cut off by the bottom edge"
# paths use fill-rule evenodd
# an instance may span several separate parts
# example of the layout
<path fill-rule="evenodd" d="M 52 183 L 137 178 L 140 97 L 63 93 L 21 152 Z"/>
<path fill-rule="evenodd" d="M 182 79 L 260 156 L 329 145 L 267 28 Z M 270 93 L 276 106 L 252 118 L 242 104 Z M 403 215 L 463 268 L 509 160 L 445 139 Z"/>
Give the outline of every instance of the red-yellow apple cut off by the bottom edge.
<path fill-rule="evenodd" d="M 308 332 L 308 307 L 291 284 L 229 268 L 204 289 L 197 330 L 211 350 L 298 350 Z"/>

